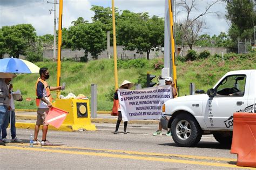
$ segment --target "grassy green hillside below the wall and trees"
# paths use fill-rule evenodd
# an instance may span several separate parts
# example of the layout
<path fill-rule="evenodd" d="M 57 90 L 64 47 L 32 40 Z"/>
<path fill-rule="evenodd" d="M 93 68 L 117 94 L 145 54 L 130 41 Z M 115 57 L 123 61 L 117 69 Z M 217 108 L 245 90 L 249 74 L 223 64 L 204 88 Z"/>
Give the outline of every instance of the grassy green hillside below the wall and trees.
<path fill-rule="evenodd" d="M 226 72 L 231 70 L 245 70 L 256 68 L 256 57 L 251 55 L 225 55 L 225 60 L 218 57 L 196 60 L 193 62 L 177 61 L 177 84 L 179 86 L 179 96 L 189 94 L 189 84 L 195 83 L 196 89 L 207 91 L 218 79 Z M 48 67 L 50 86 L 56 86 L 57 63 L 56 62 L 38 62 L 39 67 Z M 155 70 L 155 67 L 158 69 Z M 118 60 L 118 84 L 123 80 L 129 80 L 137 83 L 140 74 L 151 74 L 159 76 L 163 67 L 163 59 L 136 59 L 136 60 Z M 16 108 L 32 109 L 35 105 L 35 83 L 39 74 L 19 74 L 13 80 L 14 90 L 20 89 L 23 94 L 23 101 L 16 102 Z M 146 77 L 145 77 L 146 79 Z M 156 78 L 154 78 L 156 81 Z M 66 90 L 62 95 L 68 93 L 84 94 L 90 98 L 91 84 L 97 84 L 98 110 L 110 111 L 113 101 L 110 100 L 114 92 L 114 73 L 113 59 L 93 60 L 87 63 L 78 63 L 65 61 L 62 62 L 61 81 L 66 82 Z M 52 92 L 53 98 L 56 93 Z M 31 101 L 30 98 L 32 99 Z"/>

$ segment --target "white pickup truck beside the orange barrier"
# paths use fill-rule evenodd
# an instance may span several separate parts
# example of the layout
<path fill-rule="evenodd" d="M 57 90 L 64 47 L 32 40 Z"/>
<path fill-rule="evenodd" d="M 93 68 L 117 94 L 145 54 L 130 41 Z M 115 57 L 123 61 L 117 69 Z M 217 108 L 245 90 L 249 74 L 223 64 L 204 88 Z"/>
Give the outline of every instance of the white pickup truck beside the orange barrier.
<path fill-rule="evenodd" d="M 231 144 L 234 112 L 254 112 L 256 70 L 226 73 L 207 94 L 196 94 L 165 102 L 160 121 L 171 128 L 178 146 L 198 144 L 202 134 L 213 134 L 221 144 Z"/>

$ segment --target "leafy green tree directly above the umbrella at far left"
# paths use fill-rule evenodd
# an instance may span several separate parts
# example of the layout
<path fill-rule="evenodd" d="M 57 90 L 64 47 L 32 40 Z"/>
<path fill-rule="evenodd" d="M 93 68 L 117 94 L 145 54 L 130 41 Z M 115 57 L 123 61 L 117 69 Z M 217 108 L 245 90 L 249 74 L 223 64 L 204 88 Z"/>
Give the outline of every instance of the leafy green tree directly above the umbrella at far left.
<path fill-rule="evenodd" d="M 35 43 L 35 31 L 31 24 L 3 26 L 6 53 L 15 58 L 19 58 L 19 55 L 26 55 L 28 47 Z"/>

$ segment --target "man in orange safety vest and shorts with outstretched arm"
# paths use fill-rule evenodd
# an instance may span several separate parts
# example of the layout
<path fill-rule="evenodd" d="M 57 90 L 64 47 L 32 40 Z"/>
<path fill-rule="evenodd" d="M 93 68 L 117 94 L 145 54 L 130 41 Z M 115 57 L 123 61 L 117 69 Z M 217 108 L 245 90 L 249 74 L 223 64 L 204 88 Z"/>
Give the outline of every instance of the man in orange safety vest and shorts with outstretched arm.
<path fill-rule="evenodd" d="M 51 145 L 49 140 L 46 140 L 46 134 L 48 131 L 48 124 L 44 122 L 46 115 L 49 112 L 49 109 L 52 108 L 52 97 L 50 91 L 53 90 L 62 90 L 62 86 L 58 87 L 51 87 L 48 85 L 48 83 L 45 81 L 46 79 L 49 79 L 50 74 L 48 71 L 48 68 L 42 67 L 39 70 L 40 77 L 37 79 L 36 82 L 36 104 L 37 104 L 37 121 L 36 121 L 36 126 L 35 126 L 35 137 L 33 140 L 33 144 L 41 144 L 41 145 Z M 38 132 L 40 126 L 43 125 L 43 136 L 42 136 L 42 141 L 39 142 L 37 137 L 38 137 Z"/>

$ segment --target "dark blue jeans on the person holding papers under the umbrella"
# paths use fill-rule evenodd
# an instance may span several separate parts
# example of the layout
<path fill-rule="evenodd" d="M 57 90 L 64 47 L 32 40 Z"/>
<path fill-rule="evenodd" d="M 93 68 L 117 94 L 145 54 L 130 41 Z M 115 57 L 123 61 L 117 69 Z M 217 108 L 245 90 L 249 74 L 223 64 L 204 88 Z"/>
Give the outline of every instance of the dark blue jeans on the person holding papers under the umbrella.
<path fill-rule="evenodd" d="M 16 137 L 16 127 L 15 127 L 15 111 L 7 111 L 4 124 L 2 127 L 2 138 L 6 138 L 7 132 L 6 128 L 8 127 L 10 123 L 10 115 L 11 115 L 11 139 L 14 139 Z"/>

